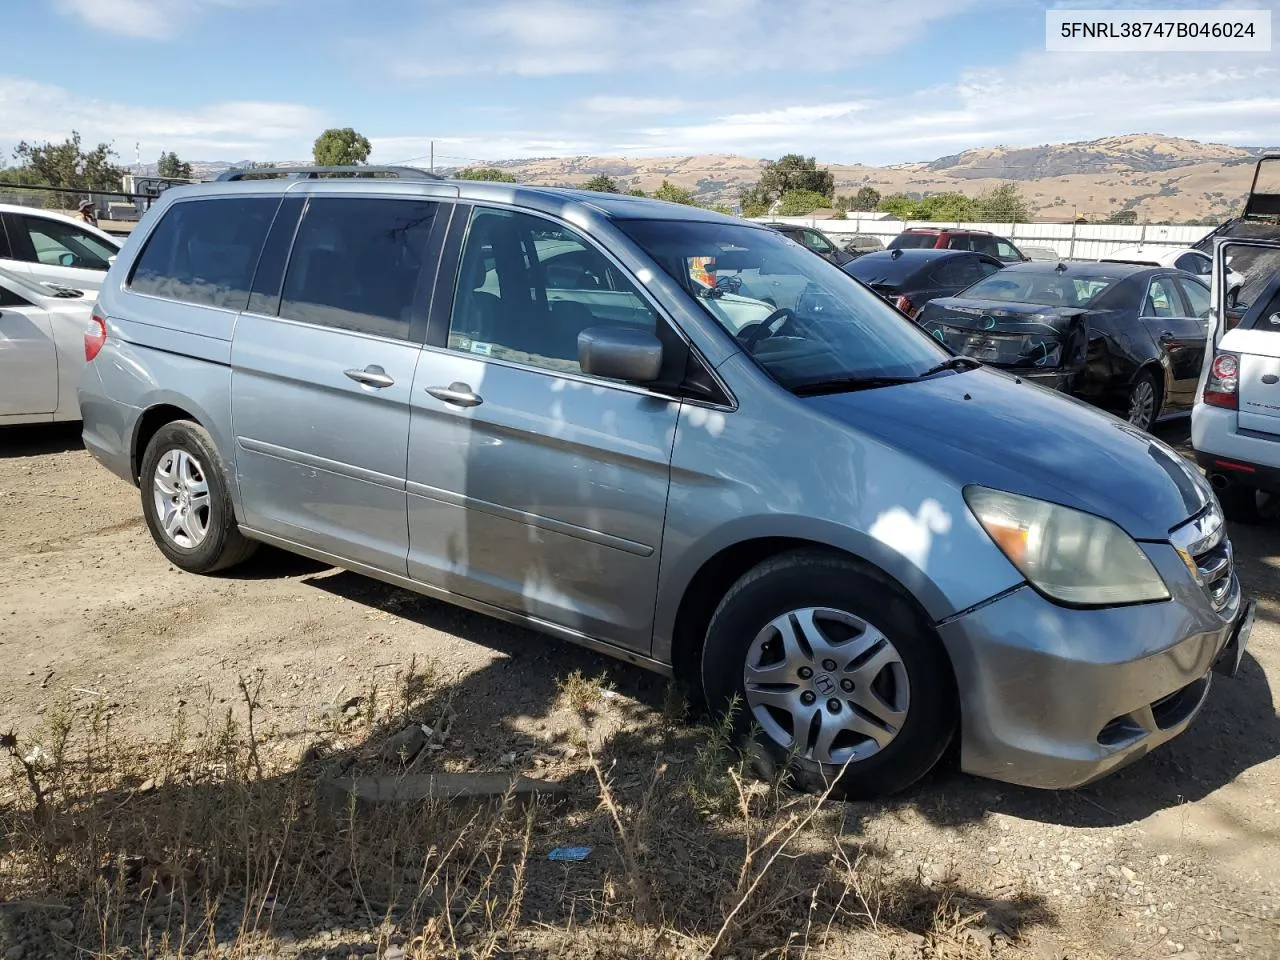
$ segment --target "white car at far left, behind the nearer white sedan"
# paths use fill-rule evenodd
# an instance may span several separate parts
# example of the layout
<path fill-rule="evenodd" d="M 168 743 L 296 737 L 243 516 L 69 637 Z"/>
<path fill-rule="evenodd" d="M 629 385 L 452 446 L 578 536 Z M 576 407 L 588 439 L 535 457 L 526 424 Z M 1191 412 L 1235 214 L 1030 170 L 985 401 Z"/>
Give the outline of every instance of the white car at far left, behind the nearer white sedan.
<path fill-rule="evenodd" d="M 0 269 L 83 293 L 102 285 L 122 242 L 51 210 L 0 204 Z"/>

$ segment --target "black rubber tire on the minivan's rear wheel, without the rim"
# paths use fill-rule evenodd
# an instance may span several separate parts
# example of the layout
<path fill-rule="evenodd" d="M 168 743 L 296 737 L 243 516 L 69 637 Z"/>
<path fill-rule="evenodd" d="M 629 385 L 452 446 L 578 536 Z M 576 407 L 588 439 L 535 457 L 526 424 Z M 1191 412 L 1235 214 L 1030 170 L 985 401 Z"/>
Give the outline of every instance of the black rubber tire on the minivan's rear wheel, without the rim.
<path fill-rule="evenodd" d="M 209 484 L 209 532 L 205 539 L 191 549 L 184 549 L 169 540 L 156 516 L 155 470 L 160 458 L 173 449 L 191 453 L 205 471 Z M 142 456 L 138 486 L 142 490 L 142 515 L 160 552 L 175 566 L 192 573 L 205 573 L 216 570 L 223 559 L 232 536 L 236 517 L 232 511 L 230 493 L 227 486 L 227 474 L 221 458 L 214 447 L 212 438 L 198 424 L 178 420 L 161 426 Z"/>

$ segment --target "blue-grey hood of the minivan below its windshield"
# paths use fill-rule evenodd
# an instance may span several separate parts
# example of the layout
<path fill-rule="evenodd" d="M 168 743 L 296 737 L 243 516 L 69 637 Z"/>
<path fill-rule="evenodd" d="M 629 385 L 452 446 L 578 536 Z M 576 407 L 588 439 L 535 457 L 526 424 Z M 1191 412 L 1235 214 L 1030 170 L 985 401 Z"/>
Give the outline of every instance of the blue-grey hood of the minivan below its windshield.
<path fill-rule="evenodd" d="M 1199 471 L 1155 436 L 989 369 L 803 402 L 957 485 L 1074 507 L 1139 540 L 1167 540 L 1212 497 Z"/>

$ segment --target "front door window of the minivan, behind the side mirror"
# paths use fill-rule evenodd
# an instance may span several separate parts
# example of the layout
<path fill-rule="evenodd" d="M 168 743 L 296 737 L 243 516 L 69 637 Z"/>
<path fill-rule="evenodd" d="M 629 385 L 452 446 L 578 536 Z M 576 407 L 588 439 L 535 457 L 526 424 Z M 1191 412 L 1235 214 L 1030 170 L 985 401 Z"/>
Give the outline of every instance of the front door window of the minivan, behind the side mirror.
<path fill-rule="evenodd" d="M 622 271 L 573 230 L 531 214 L 476 207 L 458 264 L 449 349 L 580 374 L 582 330 L 653 333 L 657 323 Z"/>

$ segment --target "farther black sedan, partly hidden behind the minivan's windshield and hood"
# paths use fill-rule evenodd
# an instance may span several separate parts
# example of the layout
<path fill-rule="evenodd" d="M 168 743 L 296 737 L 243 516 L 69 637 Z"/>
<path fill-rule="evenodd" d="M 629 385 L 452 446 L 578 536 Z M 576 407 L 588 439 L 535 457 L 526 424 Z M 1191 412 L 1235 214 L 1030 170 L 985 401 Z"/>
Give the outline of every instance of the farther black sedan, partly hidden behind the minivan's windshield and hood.
<path fill-rule="evenodd" d="M 914 317 L 934 297 L 950 297 L 1004 266 L 968 250 L 878 250 L 840 269 Z"/>

